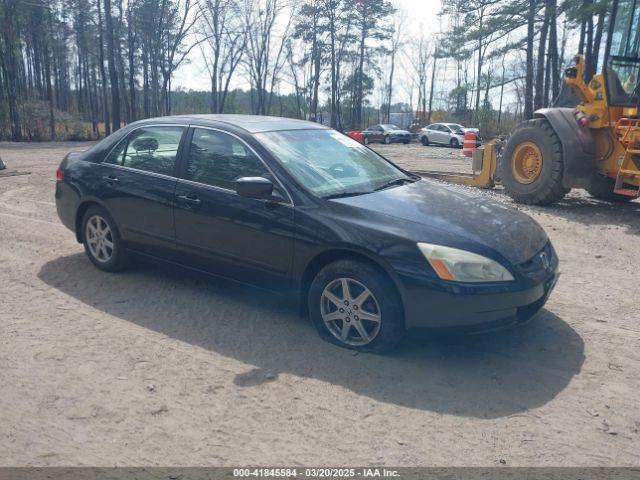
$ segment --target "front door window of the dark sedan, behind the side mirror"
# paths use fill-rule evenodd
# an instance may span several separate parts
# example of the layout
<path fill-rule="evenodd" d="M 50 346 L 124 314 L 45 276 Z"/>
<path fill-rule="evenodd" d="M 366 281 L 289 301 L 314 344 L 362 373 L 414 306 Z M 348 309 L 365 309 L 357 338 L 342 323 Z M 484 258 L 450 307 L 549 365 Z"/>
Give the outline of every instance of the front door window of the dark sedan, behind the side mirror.
<path fill-rule="evenodd" d="M 274 181 L 262 161 L 237 138 L 216 130 L 194 129 L 187 180 L 235 190 L 236 180 L 240 177 L 264 177 Z"/>

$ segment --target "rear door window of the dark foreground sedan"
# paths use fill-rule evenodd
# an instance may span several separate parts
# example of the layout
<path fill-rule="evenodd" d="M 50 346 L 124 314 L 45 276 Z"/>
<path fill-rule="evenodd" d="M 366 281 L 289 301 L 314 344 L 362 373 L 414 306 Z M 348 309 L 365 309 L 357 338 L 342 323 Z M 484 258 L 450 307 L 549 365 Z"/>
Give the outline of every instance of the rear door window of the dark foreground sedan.
<path fill-rule="evenodd" d="M 185 127 L 158 126 L 131 132 L 105 158 L 106 163 L 173 176 Z"/>

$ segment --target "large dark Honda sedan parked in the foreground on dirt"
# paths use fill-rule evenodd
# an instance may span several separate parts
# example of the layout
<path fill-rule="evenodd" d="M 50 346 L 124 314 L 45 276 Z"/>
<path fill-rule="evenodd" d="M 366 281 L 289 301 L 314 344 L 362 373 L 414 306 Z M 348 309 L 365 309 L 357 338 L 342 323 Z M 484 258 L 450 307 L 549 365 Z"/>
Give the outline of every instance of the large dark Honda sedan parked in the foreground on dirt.
<path fill-rule="evenodd" d="M 528 216 L 315 123 L 144 120 L 70 153 L 56 178 L 58 215 L 99 269 L 137 256 L 296 295 L 349 348 L 523 322 L 558 275 Z"/>

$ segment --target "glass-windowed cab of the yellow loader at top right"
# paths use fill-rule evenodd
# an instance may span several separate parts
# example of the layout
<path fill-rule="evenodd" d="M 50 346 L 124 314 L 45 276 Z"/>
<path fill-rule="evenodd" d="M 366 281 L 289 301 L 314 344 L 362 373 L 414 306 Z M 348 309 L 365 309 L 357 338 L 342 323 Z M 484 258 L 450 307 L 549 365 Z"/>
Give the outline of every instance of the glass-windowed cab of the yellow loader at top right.
<path fill-rule="evenodd" d="M 640 86 L 640 0 L 613 2 L 605 52 L 608 103 L 635 107 Z"/>

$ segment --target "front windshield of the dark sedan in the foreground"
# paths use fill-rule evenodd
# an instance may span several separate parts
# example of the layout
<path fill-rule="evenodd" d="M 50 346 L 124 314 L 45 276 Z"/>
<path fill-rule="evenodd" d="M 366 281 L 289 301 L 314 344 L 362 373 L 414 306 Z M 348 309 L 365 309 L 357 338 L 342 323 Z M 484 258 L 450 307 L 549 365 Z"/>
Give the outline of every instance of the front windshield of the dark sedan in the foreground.
<path fill-rule="evenodd" d="M 373 150 L 335 130 L 283 130 L 255 137 L 319 197 L 370 193 L 388 184 L 412 181 Z"/>

